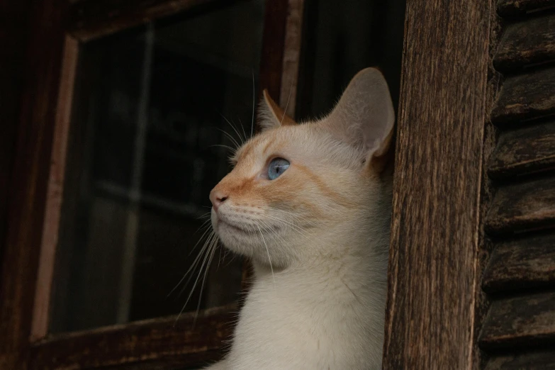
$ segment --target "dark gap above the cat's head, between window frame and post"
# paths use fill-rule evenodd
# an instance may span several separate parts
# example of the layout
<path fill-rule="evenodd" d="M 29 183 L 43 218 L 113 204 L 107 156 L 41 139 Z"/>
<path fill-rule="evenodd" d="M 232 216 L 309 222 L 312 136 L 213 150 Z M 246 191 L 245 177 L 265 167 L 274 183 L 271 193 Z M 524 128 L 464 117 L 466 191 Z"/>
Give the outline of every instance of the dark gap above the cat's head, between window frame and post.
<path fill-rule="evenodd" d="M 352 77 L 379 67 L 397 108 L 405 0 L 305 0 L 296 118 L 329 113 Z"/>

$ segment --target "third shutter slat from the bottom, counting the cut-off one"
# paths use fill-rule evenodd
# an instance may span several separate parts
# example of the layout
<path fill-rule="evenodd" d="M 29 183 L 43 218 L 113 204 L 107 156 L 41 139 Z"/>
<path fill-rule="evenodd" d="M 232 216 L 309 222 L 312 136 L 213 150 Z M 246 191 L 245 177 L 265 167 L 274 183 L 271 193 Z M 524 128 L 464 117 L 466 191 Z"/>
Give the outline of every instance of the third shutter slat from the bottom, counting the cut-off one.
<path fill-rule="evenodd" d="M 488 293 L 555 283 L 555 234 L 534 235 L 495 246 L 482 286 Z"/>

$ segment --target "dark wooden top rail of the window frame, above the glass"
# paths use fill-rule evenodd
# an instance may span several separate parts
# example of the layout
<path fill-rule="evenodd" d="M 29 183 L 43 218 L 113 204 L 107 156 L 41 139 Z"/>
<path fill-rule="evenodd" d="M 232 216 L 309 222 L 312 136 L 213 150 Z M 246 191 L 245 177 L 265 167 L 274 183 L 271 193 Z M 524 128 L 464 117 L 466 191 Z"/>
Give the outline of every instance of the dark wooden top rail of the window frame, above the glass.
<path fill-rule="evenodd" d="M 233 0 L 235 1 L 235 0 Z M 228 1 L 229 4 L 230 1 Z M 220 0 L 82 0 L 71 4 L 70 33 L 89 41 L 189 9 L 202 10 Z"/>

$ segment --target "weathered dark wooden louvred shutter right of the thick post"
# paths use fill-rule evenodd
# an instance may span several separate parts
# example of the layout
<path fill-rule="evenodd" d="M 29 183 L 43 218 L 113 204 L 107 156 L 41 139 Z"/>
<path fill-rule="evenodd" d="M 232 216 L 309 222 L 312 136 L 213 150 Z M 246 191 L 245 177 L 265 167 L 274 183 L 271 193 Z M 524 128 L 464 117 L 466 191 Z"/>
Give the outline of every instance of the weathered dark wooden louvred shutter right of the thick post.
<path fill-rule="evenodd" d="M 497 11 L 482 368 L 555 369 L 555 1 L 500 0 Z"/>

